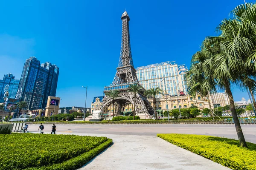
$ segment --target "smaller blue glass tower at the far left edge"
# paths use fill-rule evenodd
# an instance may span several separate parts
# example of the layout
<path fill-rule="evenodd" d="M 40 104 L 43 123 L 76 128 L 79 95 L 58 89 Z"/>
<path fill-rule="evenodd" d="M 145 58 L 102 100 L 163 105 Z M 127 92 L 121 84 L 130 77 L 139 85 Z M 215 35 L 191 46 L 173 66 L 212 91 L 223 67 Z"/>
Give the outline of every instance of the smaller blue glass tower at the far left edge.
<path fill-rule="evenodd" d="M 5 74 L 3 76 L 3 80 L 0 80 L 0 103 L 4 102 L 3 96 L 4 88 L 6 86 L 9 86 L 9 99 L 15 99 L 19 87 L 19 82 L 20 80 L 15 79 L 15 77 L 12 74 Z"/>

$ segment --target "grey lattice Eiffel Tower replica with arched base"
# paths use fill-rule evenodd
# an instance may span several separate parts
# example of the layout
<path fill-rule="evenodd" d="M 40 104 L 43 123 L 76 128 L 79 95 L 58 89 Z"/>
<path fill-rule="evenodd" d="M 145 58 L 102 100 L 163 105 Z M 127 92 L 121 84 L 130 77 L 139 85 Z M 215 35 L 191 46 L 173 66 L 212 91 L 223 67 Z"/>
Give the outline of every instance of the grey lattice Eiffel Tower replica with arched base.
<path fill-rule="evenodd" d="M 130 33 L 129 33 L 129 20 L 127 12 L 122 14 L 122 45 L 121 54 L 119 58 L 119 64 L 116 68 L 116 75 L 110 86 L 104 88 L 104 93 L 110 90 L 120 91 L 119 97 L 115 99 L 115 113 L 114 116 L 118 116 L 123 113 L 125 106 L 132 104 L 134 105 L 134 93 L 128 92 L 129 86 L 133 84 L 139 84 L 136 70 L 131 57 L 131 44 L 130 44 Z M 142 87 L 142 86 L 141 86 Z M 136 108 L 135 114 L 140 118 L 145 119 L 145 116 L 152 116 L 155 111 L 149 104 L 148 99 L 144 96 L 143 92 L 145 89 L 142 87 L 142 91 L 136 95 Z M 104 96 L 103 101 L 95 111 L 101 110 L 102 113 L 108 111 L 108 107 L 112 105 L 113 100 L 108 96 Z"/>

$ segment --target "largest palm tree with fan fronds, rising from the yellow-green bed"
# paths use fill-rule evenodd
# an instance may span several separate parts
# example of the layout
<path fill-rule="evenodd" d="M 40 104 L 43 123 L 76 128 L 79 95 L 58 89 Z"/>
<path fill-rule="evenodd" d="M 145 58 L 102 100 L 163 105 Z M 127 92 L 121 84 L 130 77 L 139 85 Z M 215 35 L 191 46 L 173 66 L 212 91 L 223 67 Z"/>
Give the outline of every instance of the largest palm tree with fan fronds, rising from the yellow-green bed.
<path fill-rule="evenodd" d="M 199 74 L 191 74 L 196 82 L 202 75 L 212 75 L 216 87 L 226 91 L 232 112 L 240 146 L 247 147 L 236 113 L 231 85 L 238 85 L 242 77 L 255 77 L 256 73 L 256 5 L 245 3 L 236 7 L 231 19 L 222 20 L 217 27 L 219 36 L 206 37 L 201 51 L 207 51 L 208 57 L 192 59 L 193 65 L 201 68 Z M 199 64 L 198 64 L 199 63 Z M 210 73 L 210 74 L 209 74 Z"/>

